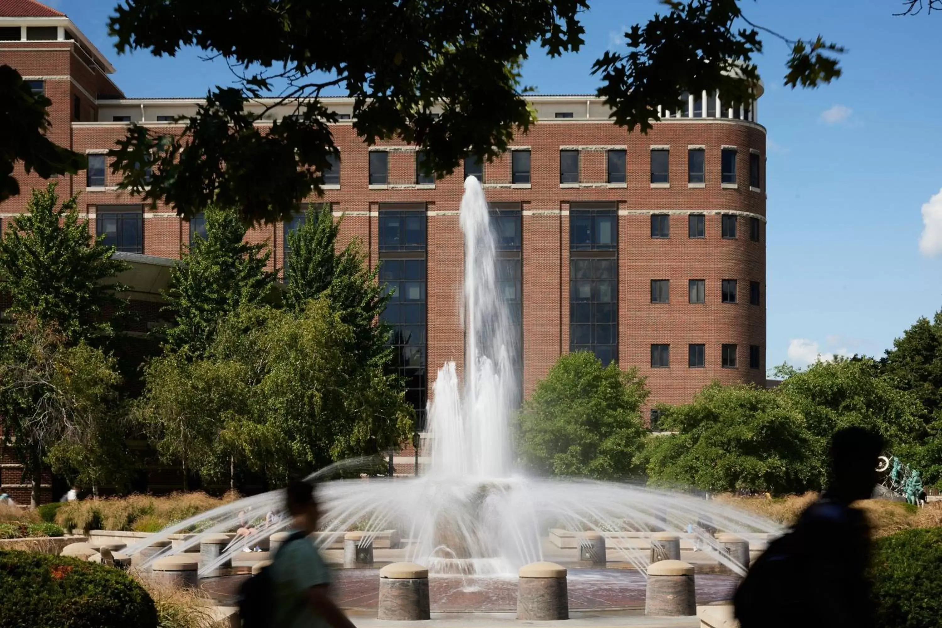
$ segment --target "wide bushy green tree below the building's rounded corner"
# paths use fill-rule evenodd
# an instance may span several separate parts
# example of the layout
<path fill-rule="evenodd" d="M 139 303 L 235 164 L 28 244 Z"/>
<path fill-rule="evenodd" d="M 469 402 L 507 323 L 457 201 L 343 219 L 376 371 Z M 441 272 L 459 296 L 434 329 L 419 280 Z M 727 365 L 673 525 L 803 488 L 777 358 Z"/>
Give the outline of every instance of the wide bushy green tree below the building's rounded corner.
<path fill-rule="evenodd" d="M 788 398 L 714 382 L 689 404 L 661 409 L 644 454 L 656 485 L 780 494 L 820 488 L 821 460 Z"/>

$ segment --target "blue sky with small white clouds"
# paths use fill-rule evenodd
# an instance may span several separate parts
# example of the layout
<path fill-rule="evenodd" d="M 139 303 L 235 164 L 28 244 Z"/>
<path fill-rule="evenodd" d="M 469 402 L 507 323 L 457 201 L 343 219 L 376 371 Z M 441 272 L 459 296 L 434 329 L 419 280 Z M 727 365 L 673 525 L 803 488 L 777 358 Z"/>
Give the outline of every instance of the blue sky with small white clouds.
<path fill-rule="evenodd" d="M 128 96 L 200 96 L 227 84 L 193 51 L 118 56 L 106 35 L 115 0 L 47 2 L 67 13 L 117 69 Z M 524 81 L 542 93 L 591 93 L 593 60 L 654 0 L 591 0 L 586 44 L 549 59 L 534 50 Z M 758 0 L 747 17 L 789 37 L 819 33 L 848 48 L 844 75 L 816 90 L 781 87 L 788 49 L 765 37 L 759 121 L 769 130 L 768 360 L 882 355 L 918 316 L 942 307 L 942 12 L 894 17 L 897 0 Z M 938 195 L 933 199 L 934 195 Z M 923 205 L 927 204 L 925 210 Z M 934 228 L 923 237 L 923 211 Z"/>

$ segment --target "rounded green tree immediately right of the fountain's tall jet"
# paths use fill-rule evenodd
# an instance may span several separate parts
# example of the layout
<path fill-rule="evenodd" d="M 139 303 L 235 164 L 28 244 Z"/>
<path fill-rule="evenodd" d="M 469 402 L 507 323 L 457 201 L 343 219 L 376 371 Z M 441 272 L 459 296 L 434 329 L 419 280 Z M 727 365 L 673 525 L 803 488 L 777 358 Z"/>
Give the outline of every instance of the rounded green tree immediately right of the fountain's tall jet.
<path fill-rule="evenodd" d="M 624 480 L 640 471 L 645 380 L 592 353 L 560 357 L 520 414 L 524 464 L 542 475 Z"/>

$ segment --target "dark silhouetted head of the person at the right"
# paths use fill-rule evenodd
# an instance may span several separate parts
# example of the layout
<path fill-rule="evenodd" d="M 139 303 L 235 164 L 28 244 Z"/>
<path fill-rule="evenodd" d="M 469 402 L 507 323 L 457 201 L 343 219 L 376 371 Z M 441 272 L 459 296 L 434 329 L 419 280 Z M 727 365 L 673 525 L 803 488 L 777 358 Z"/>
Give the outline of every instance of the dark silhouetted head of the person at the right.
<path fill-rule="evenodd" d="M 845 427 L 831 439 L 828 492 L 848 503 L 868 499 L 877 482 L 877 457 L 883 437 L 863 427 Z"/>

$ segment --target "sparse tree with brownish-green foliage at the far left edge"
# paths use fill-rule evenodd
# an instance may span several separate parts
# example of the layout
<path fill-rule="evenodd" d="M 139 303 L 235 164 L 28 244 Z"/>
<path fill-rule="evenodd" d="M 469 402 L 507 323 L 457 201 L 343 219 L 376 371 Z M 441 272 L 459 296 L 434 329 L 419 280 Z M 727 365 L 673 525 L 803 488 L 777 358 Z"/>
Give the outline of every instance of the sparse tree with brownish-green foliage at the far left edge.
<path fill-rule="evenodd" d="M 30 476 L 39 504 L 42 465 L 54 447 L 85 447 L 101 434 L 120 377 L 114 360 L 85 341 L 70 345 L 55 322 L 17 314 L 0 345 L 0 432 Z M 61 450 L 60 450 L 61 451 Z M 77 461 L 76 458 L 71 458 Z M 85 470 L 105 478 L 100 460 Z"/>

